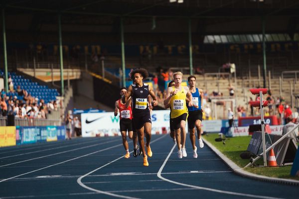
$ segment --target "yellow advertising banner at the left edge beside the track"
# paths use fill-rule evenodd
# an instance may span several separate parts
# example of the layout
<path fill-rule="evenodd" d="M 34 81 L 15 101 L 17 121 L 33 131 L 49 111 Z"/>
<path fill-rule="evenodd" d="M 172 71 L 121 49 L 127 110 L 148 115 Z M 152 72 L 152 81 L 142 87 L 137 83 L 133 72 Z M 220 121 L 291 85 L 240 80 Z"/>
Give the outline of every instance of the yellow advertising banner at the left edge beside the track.
<path fill-rule="evenodd" d="M 0 147 L 15 144 L 15 126 L 0 126 Z"/>

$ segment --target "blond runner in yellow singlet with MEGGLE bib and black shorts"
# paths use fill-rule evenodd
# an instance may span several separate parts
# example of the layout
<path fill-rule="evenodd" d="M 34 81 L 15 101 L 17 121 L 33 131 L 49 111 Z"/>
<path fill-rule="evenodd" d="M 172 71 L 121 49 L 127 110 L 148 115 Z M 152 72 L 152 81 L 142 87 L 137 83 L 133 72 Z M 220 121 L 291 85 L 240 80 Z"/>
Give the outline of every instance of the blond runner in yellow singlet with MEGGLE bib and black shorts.
<path fill-rule="evenodd" d="M 188 109 L 186 106 L 186 97 L 188 105 L 193 106 L 192 95 L 188 87 L 181 86 L 181 72 L 173 74 L 174 87 L 169 87 L 164 99 L 164 106 L 171 107 L 170 120 L 175 131 L 176 144 L 178 148 L 178 158 L 187 157 L 185 141 L 186 141 L 186 119 L 188 117 Z M 182 144 L 181 144 L 182 143 Z"/>

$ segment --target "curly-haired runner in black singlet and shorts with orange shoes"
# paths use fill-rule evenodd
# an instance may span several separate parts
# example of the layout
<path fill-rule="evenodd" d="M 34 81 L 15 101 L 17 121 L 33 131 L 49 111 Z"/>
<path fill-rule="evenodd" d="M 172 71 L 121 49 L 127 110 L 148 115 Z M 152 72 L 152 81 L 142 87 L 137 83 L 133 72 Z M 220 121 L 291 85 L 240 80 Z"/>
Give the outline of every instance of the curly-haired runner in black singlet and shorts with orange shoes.
<path fill-rule="evenodd" d="M 134 125 L 137 130 L 139 145 L 142 149 L 144 156 L 144 166 L 149 166 L 148 156 L 152 156 L 152 152 L 149 146 L 151 138 L 151 118 L 148 104 L 148 96 L 152 97 L 152 105 L 157 105 L 157 99 L 154 95 L 153 89 L 148 84 L 144 84 L 143 80 L 149 77 L 149 73 L 146 69 L 135 69 L 131 72 L 131 79 L 134 84 L 130 85 L 128 88 L 128 95 L 126 101 L 132 96 L 133 101 L 133 116 Z M 127 103 L 127 105 L 129 105 Z M 148 151 L 148 156 L 145 152 L 145 142 L 144 136 L 146 135 L 146 146 Z"/>

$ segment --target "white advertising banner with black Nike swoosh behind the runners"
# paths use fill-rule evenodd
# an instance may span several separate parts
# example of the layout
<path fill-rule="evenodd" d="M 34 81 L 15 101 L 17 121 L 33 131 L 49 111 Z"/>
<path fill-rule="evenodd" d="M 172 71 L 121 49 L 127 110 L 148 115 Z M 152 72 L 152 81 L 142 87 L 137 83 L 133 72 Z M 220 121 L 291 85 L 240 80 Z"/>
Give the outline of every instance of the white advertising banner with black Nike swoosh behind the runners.
<path fill-rule="evenodd" d="M 169 132 L 169 110 L 153 110 L 151 112 L 151 133 Z M 117 136 L 120 133 L 120 118 L 114 112 L 82 113 L 82 137 Z"/>

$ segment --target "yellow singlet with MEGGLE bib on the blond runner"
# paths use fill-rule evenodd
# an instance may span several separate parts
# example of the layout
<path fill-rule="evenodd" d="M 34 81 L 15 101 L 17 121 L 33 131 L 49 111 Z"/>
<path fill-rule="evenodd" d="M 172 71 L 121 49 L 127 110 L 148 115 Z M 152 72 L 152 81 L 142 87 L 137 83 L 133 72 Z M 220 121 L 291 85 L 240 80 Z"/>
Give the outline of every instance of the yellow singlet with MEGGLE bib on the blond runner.
<path fill-rule="evenodd" d="M 174 87 L 171 87 L 172 91 L 174 91 Z M 184 92 L 184 88 L 177 92 L 176 95 L 172 96 L 170 99 L 170 106 L 171 106 L 171 118 L 178 117 L 184 113 L 188 114 L 188 108 L 186 106 L 186 94 Z"/>

